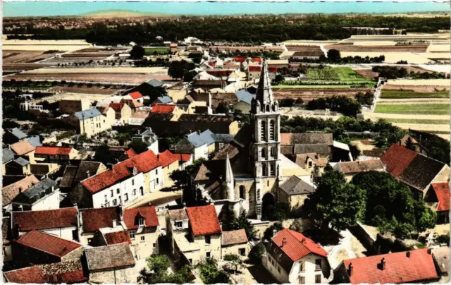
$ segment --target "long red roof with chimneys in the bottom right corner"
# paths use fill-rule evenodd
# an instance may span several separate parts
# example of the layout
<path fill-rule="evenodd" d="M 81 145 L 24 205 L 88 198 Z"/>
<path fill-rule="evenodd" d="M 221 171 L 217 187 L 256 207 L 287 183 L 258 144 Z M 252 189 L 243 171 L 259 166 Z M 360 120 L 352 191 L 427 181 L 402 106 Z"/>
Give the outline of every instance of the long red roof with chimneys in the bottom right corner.
<path fill-rule="evenodd" d="M 352 284 L 400 284 L 438 279 L 433 257 L 427 248 L 409 252 L 388 253 L 369 257 L 344 260 L 346 269 L 352 263 Z M 385 258 L 385 268 L 381 269 L 382 258 Z M 349 273 L 348 273 L 349 274 Z"/>

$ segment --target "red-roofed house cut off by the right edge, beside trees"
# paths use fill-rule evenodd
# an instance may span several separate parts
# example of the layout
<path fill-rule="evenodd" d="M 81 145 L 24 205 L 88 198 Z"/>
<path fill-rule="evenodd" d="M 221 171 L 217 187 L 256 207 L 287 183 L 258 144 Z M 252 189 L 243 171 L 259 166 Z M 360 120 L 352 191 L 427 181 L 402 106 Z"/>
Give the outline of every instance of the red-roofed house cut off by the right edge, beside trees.
<path fill-rule="evenodd" d="M 450 184 L 448 182 L 431 183 L 424 202 L 437 212 L 435 224 L 448 224 L 450 222 Z"/>

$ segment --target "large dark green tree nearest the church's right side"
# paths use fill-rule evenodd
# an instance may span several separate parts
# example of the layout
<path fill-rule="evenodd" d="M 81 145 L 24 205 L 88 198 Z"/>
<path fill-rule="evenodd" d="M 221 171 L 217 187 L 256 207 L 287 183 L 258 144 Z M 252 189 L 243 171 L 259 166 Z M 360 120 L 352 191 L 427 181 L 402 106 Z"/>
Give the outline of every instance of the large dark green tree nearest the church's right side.
<path fill-rule="evenodd" d="M 363 217 L 365 191 L 348 184 L 338 171 L 325 169 L 316 191 L 310 195 L 311 218 L 321 229 L 342 230 L 354 226 Z"/>

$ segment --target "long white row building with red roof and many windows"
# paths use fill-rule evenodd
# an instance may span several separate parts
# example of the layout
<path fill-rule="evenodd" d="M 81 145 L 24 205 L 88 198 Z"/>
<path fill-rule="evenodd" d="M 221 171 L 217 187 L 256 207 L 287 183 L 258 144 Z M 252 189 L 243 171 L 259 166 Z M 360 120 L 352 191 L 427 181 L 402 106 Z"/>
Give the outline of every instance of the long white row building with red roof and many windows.
<path fill-rule="evenodd" d="M 163 186 L 161 163 L 147 150 L 80 181 L 70 198 L 81 207 L 130 205 Z"/>

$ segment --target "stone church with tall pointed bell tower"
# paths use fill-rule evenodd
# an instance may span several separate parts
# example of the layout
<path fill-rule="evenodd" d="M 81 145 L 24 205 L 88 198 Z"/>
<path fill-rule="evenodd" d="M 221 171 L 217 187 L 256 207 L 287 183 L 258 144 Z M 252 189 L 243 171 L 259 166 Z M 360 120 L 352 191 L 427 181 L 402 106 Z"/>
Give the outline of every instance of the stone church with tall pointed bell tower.
<path fill-rule="evenodd" d="M 223 222 L 238 217 L 262 219 L 278 202 L 279 186 L 292 176 L 310 181 L 310 173 L 280 152 L 280 111 L 273 97 L 268 65 L 263 63 L 250 123 L 192 176 L 197 200 L 213 203 Z"/>

